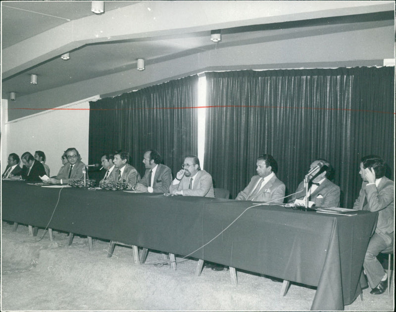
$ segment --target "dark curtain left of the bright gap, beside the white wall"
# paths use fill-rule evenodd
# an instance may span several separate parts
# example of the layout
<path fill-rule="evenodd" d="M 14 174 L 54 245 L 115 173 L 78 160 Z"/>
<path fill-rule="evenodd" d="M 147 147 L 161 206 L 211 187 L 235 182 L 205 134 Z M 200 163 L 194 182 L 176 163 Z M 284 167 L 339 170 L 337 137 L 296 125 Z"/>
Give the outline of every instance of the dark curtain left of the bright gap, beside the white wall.
<path fill-rule="evenodd" d="M 173 175 L 184 155 L 197 154 L 198 76 L 90 102 L 89 160 L 125 150 L 143 176 L 143 154 L 159 152 Z"/>

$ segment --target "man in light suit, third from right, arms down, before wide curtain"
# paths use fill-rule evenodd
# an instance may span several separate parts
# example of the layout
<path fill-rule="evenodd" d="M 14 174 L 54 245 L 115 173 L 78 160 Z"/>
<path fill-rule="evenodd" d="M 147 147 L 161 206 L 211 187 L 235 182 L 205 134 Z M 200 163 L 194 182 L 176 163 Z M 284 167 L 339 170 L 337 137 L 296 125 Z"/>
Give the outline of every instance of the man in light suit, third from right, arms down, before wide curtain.
<path fill-rule="evenodd" d="M 235 199 L 283 203 L 286 186 L 276 177 L 278 164 L 275 159 L 269 154 L 264 154 L 257 158 L 256 166 L 257 175 L 251 178 L 245 190 Z"/>

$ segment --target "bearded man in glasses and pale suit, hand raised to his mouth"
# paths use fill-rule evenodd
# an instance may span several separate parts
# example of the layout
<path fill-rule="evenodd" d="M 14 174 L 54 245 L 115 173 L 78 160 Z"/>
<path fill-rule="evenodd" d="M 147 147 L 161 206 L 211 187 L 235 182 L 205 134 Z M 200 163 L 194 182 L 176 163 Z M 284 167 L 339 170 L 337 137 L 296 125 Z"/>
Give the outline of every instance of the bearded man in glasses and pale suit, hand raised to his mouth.
<path fill-rule="evenodd" d="M 212 176 L 201 170 L 197 156 L 186 156 L 169 192 L 183 196 L 214 197 Z"/>

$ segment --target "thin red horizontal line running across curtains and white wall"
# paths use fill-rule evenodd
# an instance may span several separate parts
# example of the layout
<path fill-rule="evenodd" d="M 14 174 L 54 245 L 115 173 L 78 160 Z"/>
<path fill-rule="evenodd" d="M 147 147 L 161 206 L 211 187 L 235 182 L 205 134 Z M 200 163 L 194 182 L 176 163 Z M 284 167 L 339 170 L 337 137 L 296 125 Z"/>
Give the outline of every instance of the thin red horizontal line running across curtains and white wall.
<path fill-rule="evenodd" d="M 380 114 L 396 114 L 392 112 L 370 111 L 370 110 L 352 110 L 346 108 L 320 108 L 320 107 L 290 107 L 290 106 L 252 106 L 252 105 L 212 105 L 212 106 L 191 106 L 191 107 L 158 107 L 158 108 L 9 108 L 8 110 L 38 110 L 38 111 L 125 111 L 125 110 L 185 110 L 197 108 L 237 108 L 237 107 L 251 107 L 251 108 L 275 108 L 275 109 L 304 109 L 304 110 L 325 110 L 325 111 L 348 111 L 348 112 L 366 112 L 366 113 L 380 113 Z"/>

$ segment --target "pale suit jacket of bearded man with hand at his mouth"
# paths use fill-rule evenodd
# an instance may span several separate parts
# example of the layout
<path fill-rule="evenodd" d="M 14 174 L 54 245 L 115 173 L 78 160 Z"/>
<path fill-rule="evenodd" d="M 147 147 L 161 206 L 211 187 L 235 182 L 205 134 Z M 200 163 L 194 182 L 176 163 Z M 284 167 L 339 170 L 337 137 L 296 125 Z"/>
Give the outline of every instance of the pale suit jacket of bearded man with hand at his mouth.
<path fill-rule="evenodd" d="M 183 176 L 178 184 L 171 184 L 170 193 L 183 190 L 183 196 L 214 197 L 212 176 L 205 170 L 199 170 L 195 177 L 193 189 L 189 190 L 190 178 Z"/>

